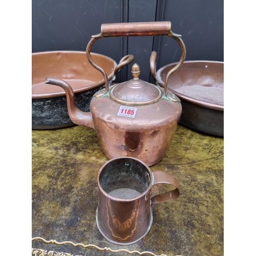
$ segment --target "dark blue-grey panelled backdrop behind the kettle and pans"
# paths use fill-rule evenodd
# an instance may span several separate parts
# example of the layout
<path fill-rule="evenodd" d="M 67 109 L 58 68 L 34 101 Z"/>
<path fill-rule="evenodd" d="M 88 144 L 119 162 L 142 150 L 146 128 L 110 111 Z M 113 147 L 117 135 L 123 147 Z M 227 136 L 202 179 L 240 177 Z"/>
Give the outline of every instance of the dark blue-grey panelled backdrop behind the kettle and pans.
<path fill-rule="evenodd" d="M 32 1 L 32 52 L 86 51 L 92 35 L 104 23 L 172 22 L 186 46 L 185 60 L 224 61 L 223 0 L 37 0 Z M 168 36 L 113 37 L 95 42 L 92 52 L 117 63 L 134 55 L 140 78 L 153 82 L 150 55 L 157 51 L 157 70 L 179 61 L 178 43 Z M 117 81 L 131 79 L 131 66 L 124 67 Z"/>

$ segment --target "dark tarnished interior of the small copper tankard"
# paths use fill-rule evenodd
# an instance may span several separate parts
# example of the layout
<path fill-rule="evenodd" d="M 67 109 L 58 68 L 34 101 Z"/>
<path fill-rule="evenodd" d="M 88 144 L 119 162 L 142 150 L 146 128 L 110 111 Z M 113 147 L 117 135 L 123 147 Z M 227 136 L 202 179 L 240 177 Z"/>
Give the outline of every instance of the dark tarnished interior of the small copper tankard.
<path fill-rule="evenodd" d="M 99 183 L 103 190 L 117 198 L 133 198 L 150 185 L 150 173 L 140 161 L 119 158 L 109 162 L 101 171 Z"/>

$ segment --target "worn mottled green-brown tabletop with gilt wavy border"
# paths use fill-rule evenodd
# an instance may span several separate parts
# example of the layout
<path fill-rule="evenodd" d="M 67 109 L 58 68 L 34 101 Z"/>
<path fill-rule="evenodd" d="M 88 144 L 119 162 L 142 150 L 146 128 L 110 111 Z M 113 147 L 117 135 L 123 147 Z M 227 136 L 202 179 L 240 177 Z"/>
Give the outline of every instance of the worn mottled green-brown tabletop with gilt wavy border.
<path fill-rule="evenodd" d="M 97 174 L 108 159 L 95 130 L 32 130 L 32 255 L 223 255 L 223 151 L 223 138 L 178 125 L 165 157 L 150 168 L 174 175 L 181 195 L 155 205 L 146 236 L 121 246 L 96 225 Z"/>

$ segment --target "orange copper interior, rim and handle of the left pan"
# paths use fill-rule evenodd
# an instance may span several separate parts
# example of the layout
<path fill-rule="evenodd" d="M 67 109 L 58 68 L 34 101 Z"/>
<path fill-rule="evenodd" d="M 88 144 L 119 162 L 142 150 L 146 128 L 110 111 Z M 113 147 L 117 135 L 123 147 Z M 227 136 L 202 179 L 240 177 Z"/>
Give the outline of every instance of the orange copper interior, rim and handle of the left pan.
<path fill-rule="evenodd" d="M 127 65 L 127 58 L 131 56 L 124 56 L 117 65 L 110 57 L 92 53 L 92 58 L 104 68 L 109 79 L 112 79 L 120 68 Z M 65 95 L 61 88 L 46 84 L 46 77 L 65 79 L 75 93 L 104 84 L 101 73 L 90 65 L 86 52 L 82 51 L 32 53 L 32 99 Z"/>

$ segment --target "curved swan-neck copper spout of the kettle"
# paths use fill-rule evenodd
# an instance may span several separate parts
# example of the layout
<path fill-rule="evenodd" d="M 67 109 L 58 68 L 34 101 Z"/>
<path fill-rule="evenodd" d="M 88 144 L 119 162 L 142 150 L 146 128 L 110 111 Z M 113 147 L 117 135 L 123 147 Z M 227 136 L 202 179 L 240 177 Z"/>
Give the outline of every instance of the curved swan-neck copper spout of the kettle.
<path fill-rule="evenodd" d="M 69 83 L 64 80 L 52 77 L 48 77 L 45 83 L 52 84 L 53 86 L 59 86 L 65 90 L 67 95 L 69 117 L 73 123 L 94 129 L 91 112 L 82 112 L 77 108 L 75 94 Z"/>

